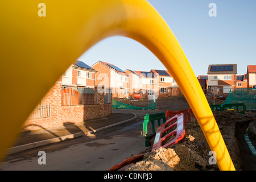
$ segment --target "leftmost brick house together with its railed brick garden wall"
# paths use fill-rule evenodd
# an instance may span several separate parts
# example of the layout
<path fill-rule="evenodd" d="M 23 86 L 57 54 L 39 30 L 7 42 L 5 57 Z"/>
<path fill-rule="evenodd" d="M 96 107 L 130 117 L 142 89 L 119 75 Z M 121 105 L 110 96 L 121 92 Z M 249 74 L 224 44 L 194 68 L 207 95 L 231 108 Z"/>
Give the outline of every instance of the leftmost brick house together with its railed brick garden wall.
<path fill-rule="evenodd" d="M 23 129 L 59 127 L 112 113 L 112 94 L 97 92 L 95 73 L 81 61 L 72 64 L 35 107 Z"/>

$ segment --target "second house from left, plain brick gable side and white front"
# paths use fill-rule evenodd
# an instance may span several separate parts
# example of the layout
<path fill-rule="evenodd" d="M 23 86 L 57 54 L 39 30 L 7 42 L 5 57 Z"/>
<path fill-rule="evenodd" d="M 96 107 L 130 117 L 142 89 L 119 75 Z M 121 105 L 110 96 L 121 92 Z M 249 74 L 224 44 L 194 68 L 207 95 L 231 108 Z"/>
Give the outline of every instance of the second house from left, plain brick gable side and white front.
<path fill-rule="evenodd" d="M 129 74 L 113 64 L 104 61 L 97 61 L 92 65 L 96 73 L 96 86 L 110 89 L 115 98 L 129 96 Z"/>

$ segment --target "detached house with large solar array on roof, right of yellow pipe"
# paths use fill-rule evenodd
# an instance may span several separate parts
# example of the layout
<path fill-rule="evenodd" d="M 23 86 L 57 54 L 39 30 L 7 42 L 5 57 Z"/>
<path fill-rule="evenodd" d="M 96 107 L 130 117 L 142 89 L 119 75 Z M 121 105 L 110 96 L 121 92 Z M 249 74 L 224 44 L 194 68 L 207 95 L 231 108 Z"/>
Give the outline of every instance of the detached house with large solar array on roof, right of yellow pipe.
<path fill-rule="evenodd" d="M 214 94 L 228 95 L 237 86 L 237 64 L 212 64 L 208 67 L 208 88 Z"/>

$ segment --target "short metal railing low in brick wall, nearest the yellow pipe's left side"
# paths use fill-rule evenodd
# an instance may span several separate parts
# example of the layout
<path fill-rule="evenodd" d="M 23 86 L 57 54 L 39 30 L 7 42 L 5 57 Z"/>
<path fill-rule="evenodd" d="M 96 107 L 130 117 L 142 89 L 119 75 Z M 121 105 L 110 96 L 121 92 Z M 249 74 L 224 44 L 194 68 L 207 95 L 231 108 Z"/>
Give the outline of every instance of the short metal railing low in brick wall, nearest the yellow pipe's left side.
<path fill-rule="evenodd" d="M 32 113 L 28 116 L 28 119 L 47 117 L 51 117 L 51 105 L 39 105 L 35 107 Z"/>

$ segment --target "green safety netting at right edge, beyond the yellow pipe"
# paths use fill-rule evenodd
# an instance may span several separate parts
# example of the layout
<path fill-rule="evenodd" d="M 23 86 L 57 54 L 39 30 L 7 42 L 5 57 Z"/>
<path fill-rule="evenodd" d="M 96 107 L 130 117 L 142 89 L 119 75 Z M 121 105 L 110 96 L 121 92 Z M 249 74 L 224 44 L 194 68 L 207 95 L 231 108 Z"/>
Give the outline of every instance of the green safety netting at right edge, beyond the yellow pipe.
<path fill-rule="evenodd" d="M 243 103 L 246 110 L 256 110 L 256 89 L 233 89 L 224 104 Z M 221 104 L 221 105 L 224 105 Z"/>

